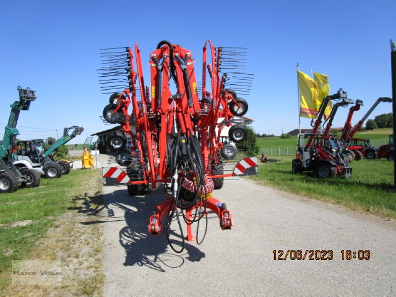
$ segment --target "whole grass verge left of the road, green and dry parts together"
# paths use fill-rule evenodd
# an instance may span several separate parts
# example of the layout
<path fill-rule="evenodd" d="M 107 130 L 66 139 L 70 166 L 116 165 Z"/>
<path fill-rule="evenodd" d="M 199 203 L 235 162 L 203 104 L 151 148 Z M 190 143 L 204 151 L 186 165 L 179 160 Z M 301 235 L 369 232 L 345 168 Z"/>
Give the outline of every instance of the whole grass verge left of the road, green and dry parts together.
<path fill-rule="evenodd" d="M 100 204 L 100 170 L 72 170 L 59 179 L 42 179 L 38 188 L 2 194 L 0 296 L 100 295 L 101 262 L 95 257 L 101 227 L 82 224 L 95 220 L 87 214 L 95 214 Z M 10 284 L 12 260 L 38 259 L 62 261 L 62 288 Z"/>

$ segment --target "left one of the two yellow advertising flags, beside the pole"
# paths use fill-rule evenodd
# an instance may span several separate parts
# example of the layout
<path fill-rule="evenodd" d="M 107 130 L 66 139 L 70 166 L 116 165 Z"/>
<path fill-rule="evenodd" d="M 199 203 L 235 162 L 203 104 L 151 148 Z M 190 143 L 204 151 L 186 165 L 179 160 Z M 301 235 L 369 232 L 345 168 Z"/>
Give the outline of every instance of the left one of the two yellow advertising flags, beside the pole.
<path fill-rule="evenodd" d="M 297 70 L 300 91 L 300 116 L 314 119 L 318 115 L 318 94 L 315 81 Z"/>

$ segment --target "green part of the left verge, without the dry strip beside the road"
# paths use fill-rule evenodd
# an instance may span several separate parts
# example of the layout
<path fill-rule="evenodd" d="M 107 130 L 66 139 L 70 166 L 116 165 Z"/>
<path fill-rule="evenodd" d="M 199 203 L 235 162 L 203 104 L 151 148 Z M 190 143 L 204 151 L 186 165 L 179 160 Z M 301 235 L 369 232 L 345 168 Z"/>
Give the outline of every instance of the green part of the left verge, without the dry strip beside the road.
<path fill-rule="evenodd" d="M 27 257 L 56 217 L 73 209 L 73 198 L 84 195 L 92 180 L 100 179 L 100 173 L 99 169 L 72 170 L 59 179 L 41 179 L 38 188 L 18 188 L 0 195 L 0 293 L 9 282 L 11 261 Z M 11 226 L 26 220 L 34 222 Z"/>

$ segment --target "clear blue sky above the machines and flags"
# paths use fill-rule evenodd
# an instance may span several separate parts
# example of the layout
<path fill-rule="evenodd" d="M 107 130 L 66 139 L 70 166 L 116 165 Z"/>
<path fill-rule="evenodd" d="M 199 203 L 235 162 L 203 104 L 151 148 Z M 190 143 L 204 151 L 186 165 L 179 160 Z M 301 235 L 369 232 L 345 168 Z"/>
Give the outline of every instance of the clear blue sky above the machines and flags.
<path fill-rule="evenodd" d="M 56 137 L 63 127 L 83 126 L 71 143 L 108 129 L 99 116 L 108 103 L 96 70 L 99 49 L 138 43 L 146 84 L 148 57 L 161 40 L 191 49 L 197 60 L 207 39 L 214 46 L 248 48 L 247 72 L 255 74 L 248 117 L 256 132 L 280 135 L 298 127 L 296 64 L 305 73 L 329 75 L 362 99 L 360 119 L 378 97 L 391 97 L 390 39 L 396 39 L 396 1 L 22 1 L 0 0 L 0 129 L 18 85 L 36 90 L 20 114 L 20 139 Z M 196 67 L 197 77 L 201 69 Z M 381 103 L 370 118 L 392 112 Z M 339 109 L 340 127 L 347 108 Z M 301 127 L 310 120 L 301 118 Z"/>

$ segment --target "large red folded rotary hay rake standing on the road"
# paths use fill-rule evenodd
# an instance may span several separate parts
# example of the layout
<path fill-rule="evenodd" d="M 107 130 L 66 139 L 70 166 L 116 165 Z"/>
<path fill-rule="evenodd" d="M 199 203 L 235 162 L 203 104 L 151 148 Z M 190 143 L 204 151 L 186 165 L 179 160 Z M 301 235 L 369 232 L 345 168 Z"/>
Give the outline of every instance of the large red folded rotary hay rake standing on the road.
<path fill-rule="evenodd" d="M 104 167 L 103 181 L 105 185 L 126 184 L 131 196 L 147 194 L 148 188 L 164 184 L 168 198 L 149 218 L 148 232 L 160 234 L 163 230 L 177 252 L 183 250 L 185 240 L 181 217 L 187 224 L 188 241 L 195 239 L 192 223 L 203 218 L 207 224 L 208 209 L 219 217 L 222 230 L 231 229 L 230 211 L 212 192 L 223 186 L 225 177 L 257 174 L 256 157 L 241 160 L 232 174 L 224 174 L 219 152 L 224 127 L 230 127 L 233 142 L 242 142 L 247 136 L 245 126 L 239 124 L 240 116 L 247 112 L 247 101 L 237 97 L 236 92 L 247 92 L 253 77 L 235 72 L 238 64 L 245 63 L 244 55 L 242 48 L 215 48 L 208 40 L 203 47 L 202 84 L 198 86 L 191 50 L 161 41 L 149 57 L 150 88 L 144 83 L 137 44 L 134 52 L 131 48 L 105 49 L 101 55 L 107 66 L 99 71 L 100 82 L 113 84 L 102 90 L 120 90 L 118 83 L 127 84 L 123 92 L 110 96 L 103 119 L 120 123 L 132 140 L 131 149 L 125 149 L 124 133 L 114 132 L 107 138 L 107 144 L 117 154 L 117 163 L 126 166 L 126 170 Z M 226 69 L 232 71 L 220 75 Z M 109 78 L 125 74 L 126 78 Z M 171 81 L 176 92 L 170 89 Z M 238 84 L 240 87 L 236 88 Z M 172 221 L 178 221 L 180 228 L 180 250 L 169 240 Z"/>

